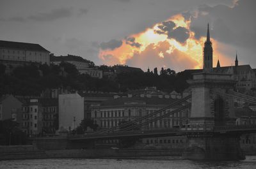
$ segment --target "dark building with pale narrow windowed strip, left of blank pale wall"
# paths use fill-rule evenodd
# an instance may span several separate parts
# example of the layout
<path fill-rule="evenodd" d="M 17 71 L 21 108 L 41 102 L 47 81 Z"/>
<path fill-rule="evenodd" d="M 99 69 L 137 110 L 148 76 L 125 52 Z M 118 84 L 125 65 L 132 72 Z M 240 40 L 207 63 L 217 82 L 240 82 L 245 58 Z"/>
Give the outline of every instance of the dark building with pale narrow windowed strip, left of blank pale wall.
<path fill-rule="evenodd" d="M 22 131 L 28 135 L 55 133 L 58 128 L 58 99 L 27 99 L 21 112 Z"/>

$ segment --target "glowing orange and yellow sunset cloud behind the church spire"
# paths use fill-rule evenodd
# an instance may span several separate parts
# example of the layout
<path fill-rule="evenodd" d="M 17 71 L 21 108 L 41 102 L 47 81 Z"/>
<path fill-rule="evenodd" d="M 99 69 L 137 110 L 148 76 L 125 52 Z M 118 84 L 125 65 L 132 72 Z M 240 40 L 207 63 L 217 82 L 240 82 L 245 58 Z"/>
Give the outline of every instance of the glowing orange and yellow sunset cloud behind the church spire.
<path fill-rule="evenodd" d="M 129 64 L 144 70 L 148 66 L 172 68 L 176 71 L 198 69 L 202 68 L 204 41 L 205 38 L 195 38 L 195 33 L 190 30 L 190 20 L 185 20 L 179 14 L 141 33 L 131 34 L 122 40 L 122 46 L 118 48 L 100 50 L 99 57 L 106 64 Z M 228 57 L 218 50 L 218 41 L 213 38 L 211 41 L 214 63 L 218 57 L 221 58 L 221 64 L 230 62 Z"/>

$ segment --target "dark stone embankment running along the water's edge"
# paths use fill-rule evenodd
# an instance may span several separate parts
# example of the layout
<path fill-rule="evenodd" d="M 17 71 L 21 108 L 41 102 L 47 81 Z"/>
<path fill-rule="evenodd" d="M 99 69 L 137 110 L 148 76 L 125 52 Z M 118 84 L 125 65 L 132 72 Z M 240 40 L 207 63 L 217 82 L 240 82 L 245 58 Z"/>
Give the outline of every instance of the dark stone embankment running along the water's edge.
<path fill-rule="evenodd" d="M 183 149 L 59 149 L 40 150 L 33 145 L 0 146 L 0 160 L 58 158 L 122 158 L 137 159 L 153 156 L 181 156 Z M 244 151 L 255 155 L 256 150 Z"/>

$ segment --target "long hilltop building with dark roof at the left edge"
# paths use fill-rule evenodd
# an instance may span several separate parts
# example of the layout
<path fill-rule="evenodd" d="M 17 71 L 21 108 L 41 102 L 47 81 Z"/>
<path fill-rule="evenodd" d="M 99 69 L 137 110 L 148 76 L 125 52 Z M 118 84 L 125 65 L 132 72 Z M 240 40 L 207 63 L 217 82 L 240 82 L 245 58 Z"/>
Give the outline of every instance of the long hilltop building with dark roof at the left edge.
<path fill-rule="evenodd" d="M 24 65 L 28 62 L 50 64 L 50 52 L 34 43 L 0 40 L 0 62 L 6 65 Z"/>

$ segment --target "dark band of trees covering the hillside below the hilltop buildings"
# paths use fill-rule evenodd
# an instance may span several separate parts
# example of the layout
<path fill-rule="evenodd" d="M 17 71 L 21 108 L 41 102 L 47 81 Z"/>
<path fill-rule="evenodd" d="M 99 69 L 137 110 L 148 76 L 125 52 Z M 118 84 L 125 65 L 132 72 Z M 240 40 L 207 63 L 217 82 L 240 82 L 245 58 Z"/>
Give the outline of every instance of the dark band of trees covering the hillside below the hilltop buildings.
<path fill-rule="evenodd" d="M 108 70 L 108 66 L 100 67 Z M 19 66 L 13 68 L 11 73 L 4 73 L 5 66 L 0 65 L 0 96 L 2 94 L 15 94 L 22 96 L 40 96 L 45 89 L 63 88 L 74 91 L 102 91 L 102 92 L 126 92 L 129 89 L 143 89 L 156 86 L 157 89 L 171 92 L 181 92 L 188 84 L 189 75 L 185 72 L 175 73 L 167 69 L 157 74 L 151 71 L 120 73 L 102 79 L 89 75 L 81 75 L 76 66 L 68 62 L 61 62 L 60 66 L 42 64 L 37 66 Z"/>

